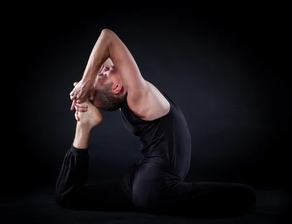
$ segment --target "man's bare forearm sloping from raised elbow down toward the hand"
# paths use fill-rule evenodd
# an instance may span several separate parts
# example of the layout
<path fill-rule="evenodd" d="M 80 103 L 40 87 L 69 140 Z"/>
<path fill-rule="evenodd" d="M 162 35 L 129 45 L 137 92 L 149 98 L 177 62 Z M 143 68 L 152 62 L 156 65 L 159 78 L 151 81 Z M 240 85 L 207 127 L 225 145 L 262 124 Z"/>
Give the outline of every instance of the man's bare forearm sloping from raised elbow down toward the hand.
<path fill-rule="evenodd" d="M 100 72 L 103 64 L 110 58 L 110 41 L 111 33 L 104 29 L 98 37 L 89 57 L 86 69 L 84 71 L 83 79 L 92 80 Z M 111 62 L 111 60 L 110 60 Z M 112 63 L 112 62 L 111 62 Z"/>

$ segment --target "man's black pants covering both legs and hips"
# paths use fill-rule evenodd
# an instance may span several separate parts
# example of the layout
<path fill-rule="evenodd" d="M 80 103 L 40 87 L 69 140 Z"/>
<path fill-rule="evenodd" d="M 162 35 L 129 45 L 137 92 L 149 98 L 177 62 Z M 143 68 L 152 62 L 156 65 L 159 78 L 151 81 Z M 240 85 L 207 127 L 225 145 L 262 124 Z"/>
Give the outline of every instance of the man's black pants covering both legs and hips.
<path fill-rule="evenodd" d="M 81 210 L 137 209 L 155 213 L 245 211 L 256 203 L 252 187 L 229 183 L 186 183 L 175 170 L 142 161 L 116 182 L 84 186 L 88 179 L 87 149 L 72 147 L 57 178 L 55 201 Z"/>

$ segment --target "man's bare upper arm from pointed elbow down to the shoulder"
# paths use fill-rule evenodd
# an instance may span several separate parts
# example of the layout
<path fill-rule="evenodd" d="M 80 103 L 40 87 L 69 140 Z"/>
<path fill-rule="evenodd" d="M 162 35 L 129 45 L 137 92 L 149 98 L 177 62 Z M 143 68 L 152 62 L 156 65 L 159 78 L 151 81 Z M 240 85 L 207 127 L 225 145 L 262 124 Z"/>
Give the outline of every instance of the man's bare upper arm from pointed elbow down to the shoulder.
<path fill-rule="evenodd" d="M 122 40 L 112 31 L 103 30 L 110 38 L 109 55 L 112 63 L 119 71 L 123 86 L 128 91 L 128 96 L 140 98 L 146 93 L 146 80 L 142 77 L 140 70 L 133 56 Z"/>

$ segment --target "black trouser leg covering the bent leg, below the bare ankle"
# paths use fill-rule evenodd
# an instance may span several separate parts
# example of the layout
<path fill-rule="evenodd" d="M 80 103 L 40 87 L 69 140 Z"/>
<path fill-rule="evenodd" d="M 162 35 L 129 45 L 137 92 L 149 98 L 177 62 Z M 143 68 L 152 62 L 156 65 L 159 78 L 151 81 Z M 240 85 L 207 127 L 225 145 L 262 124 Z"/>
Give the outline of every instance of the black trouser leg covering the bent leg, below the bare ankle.
<path fill-rule="evenodd" d="M 55 202 L 61 207 L 79 210 L 130 209 L 131 203 L 120 181 L 84 186 L 88 178 L 88 149 L 72 146 L 67 151 L 57 178 Z"/>

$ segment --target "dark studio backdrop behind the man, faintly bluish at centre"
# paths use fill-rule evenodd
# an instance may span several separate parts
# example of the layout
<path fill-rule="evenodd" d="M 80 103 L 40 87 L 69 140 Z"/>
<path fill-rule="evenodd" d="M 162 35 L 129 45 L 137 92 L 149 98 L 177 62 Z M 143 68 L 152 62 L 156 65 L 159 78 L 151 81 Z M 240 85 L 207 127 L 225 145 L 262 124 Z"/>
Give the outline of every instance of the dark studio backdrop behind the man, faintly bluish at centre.
<path fill-rule="evenodd" d="M 96 11 L 43 6 L 22 13 L 14 26 L 20 70 L 15 134 L 2 157 L 9 164 L 2 169 L 4 192 L 54 186 L 76 125 L 69 93 L 104 28 L 183 111 L 192 137 L 186 181 L 287 187 L 288 16 L 280 8 L 230 7 L 202 12 L 141 3 L 126 11 L 119 5 L 90 7 Z M 119 178 L 141 157 L 120 112 L 103 114 L 91 135 L 90 181 Z"/>

